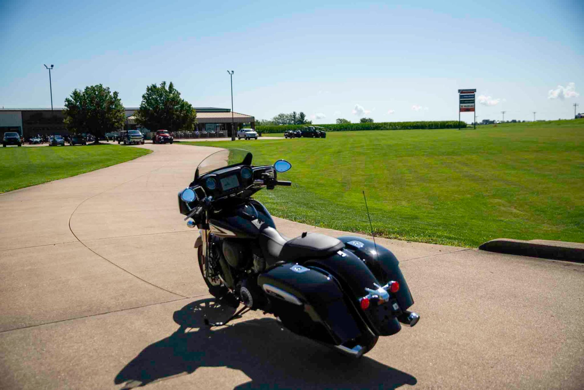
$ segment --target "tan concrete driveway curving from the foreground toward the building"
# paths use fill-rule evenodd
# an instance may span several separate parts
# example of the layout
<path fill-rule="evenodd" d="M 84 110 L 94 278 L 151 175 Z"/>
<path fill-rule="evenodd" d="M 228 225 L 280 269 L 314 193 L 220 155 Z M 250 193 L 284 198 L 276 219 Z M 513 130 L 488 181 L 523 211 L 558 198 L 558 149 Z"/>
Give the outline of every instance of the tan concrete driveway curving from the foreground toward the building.
<path fill-rule="evenodd" d="M 176 193 L 216 149 L 141 147 L 0 195 L 1 389 L 582 388 L 584 264 L 380 239 L 422 318 L 361 360 L 262 313 L 206 329 L 233 309 L 207 295 Z"/>

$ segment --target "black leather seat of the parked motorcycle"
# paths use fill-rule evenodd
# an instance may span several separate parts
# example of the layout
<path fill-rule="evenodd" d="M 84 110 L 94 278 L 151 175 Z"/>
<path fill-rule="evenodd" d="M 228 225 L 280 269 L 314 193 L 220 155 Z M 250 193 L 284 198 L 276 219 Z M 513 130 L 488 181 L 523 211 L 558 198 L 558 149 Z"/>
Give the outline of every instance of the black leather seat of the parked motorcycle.
<path fill-rule="evenodd" d="M 345 247 L 339 239 L 320 233 L 308 233 L 290 240 L 273 227 L 262 230 L 259 242 L 268 264 L 279 261 L 300 263 L 310 258 L 331 256 Z"/>

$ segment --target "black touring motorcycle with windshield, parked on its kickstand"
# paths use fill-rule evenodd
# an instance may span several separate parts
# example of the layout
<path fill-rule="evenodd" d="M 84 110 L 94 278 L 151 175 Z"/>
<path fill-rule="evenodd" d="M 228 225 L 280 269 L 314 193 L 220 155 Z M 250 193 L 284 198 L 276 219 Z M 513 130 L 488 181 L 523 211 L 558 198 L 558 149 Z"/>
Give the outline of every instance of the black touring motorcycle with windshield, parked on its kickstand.
<path fill-rule="evenodd" d="M 360 357 L 379 336 L 399 332 L 400 322 L 416 325 L 419 316 L 407 310 L 412 295 L 395 256 L 373 241 L 319 233 L 288 239 L 276 230 L 251 196 L 290 186 L 277 180 L 290 168 L 285 160 L 254 166 L 241 149 L 199 164 L 178 199 L 187 225 L 200 229 L 201 274 L 211 294 L 244 305 L 232 318 L 251 309 L 272 313 L 292 332 Z"/>

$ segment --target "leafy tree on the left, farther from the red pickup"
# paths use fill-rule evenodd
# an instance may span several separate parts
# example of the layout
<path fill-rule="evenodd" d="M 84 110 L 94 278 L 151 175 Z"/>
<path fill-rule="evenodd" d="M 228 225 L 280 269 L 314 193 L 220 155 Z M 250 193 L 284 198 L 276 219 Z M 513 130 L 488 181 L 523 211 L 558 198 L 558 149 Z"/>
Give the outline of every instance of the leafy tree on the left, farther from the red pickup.
<path fill-rule="evenodd" d="M 107 132 L 121 129 L 126 115 L 117 91 L 110 92 L 102 84 L 85 87 L 84 91 L 74 89 L 65 99 L 64 123 L 75 133 L 89 133 L 95 136 L 95 143 Z"/>

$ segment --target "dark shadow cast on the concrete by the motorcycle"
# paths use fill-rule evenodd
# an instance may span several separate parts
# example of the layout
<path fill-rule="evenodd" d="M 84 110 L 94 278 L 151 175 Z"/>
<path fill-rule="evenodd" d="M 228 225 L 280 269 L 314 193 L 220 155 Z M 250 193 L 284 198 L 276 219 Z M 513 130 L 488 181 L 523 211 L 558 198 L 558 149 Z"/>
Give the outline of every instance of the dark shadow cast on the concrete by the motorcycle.
<path fill-rule="evenodd" d="M 228 367 L 251 378 L 235 389 L 395 389 L 417 382 L 412 375 L 367 356 L 355 360 L 282 330 L 274 319 L 252 319 L 214 329 L 203 325 L 205 314 L 218 321 L 234 313 L 232 306 L 213 298 L 186 305 L 173 315 L 179 329 L 144 348 L 116 375 L 114 383 L 130 389 L 192 374 L 199 367 Z M 217 388 L 225 383 L 224 378 L 206 382 L 200 385 Z"/>

